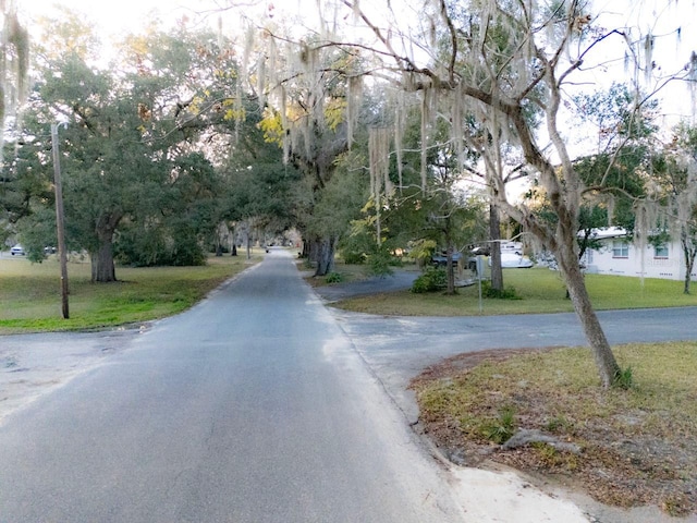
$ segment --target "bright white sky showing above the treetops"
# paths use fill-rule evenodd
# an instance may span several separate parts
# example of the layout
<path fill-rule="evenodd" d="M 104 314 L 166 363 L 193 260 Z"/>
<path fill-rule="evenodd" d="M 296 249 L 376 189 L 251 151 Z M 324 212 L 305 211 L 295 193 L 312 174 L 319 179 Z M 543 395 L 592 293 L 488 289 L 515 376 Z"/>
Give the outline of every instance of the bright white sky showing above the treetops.
<path fill-rule="evenodd" d="M 125 32 L 138 32 L 143 29 L 152 16 L 157 16 L 166 23 L 174 23 L 186 16 L 196 19 L 197 13 L 208 12 L 207 23 L 217 25 L 219 14 L 215 8 L 224 5 L 229 0 L 16 0 L 21 15 L 36 19 L 40 15 L 49 15 L 54 12 L 53 7 L 59 3 L 77 12 L 85 13 L 86 20 L 93 21 L 97 27 L 111 37 L 119 37 Z M 419 3 L 420 0 L 412 0 L 411 3 Z M 372 0 L 362 4 L 365 9 L 370 5 L 382 5 L 386 0 Z M 256 4 L 256 8 L 246 8 L 252 14 L 274 13 L 277 20 L 288 16 L 289 13 L 301 11 L 304 14 L 316 13 L 317 0 L 235 0 L 237 4 Z M 393 7 L 400 3 L 407 4 L 408 0 L 392 0 Z M 322 2 L 325 5 L 326 2 Z M 298 9 L 301 8 L 301 9 Z M 409 20 L 406 10 L 396 8 L 400 21 Z M 284 11 L 284 12 L 283 12 Z M 243 11 L 244 12 L 244 11 Z M 663 68 L 662 71 L 676 71 L 684 65 L 692 50 L 697 51 L 697 0 L 592 0 L 591 13 L 603 13 L 602 17 L 594 21 L 595 24 L 604 27 L 622 27 L 633 25 L 643 33 L 650 32 L 660 36 L 656 39 L 657 47 L 655 60 Z M 227 16 L 228 32 L 234 31 L 231 24 L 239 21 L 240 16 Z M 308 19 L 309 20 L 309 19 Z M 285 21 L 285 20 L 284 20 Z M 350 21 L 344 21 L 350 22 Z M 189 22 L 191 23 L 191 22 Z M 681 28 L 681 37 L 675 36 L 675 29 Z M 636 31 L 635 35 L 638 36 Z M 663 36 L 661 36 L 663 35 Z M 619 38 L 615 38 L 619 41 Z M 589 83 L 598 86 L 609 85 L 612 80 L 622 80 L 627 72 L 622 65 L 622 50 L 620 46 L 603 45 L 612 56 L 619 59 L 614 64 L 595 70 L 587 77 Z M 604 52 L 604 51 L 603 51 Z M 599 59 L 599 57 L 594 57 Z M 647 85 L 647 88 L 650 85 Z M 667 112 L 674 114 L 692 113 L 689 93 L 684 87 L 677 86 L 667 89 L 663 97 L 668 102 Z"/>

